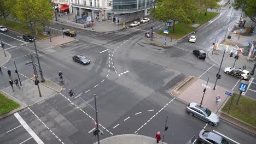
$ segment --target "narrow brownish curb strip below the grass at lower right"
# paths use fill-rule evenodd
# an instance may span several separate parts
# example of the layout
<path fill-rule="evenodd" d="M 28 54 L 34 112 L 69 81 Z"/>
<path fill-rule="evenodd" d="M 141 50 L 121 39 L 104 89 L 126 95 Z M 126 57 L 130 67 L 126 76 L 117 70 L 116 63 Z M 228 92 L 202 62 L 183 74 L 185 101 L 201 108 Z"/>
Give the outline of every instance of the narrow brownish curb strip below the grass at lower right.
<path fill-rule="evenodd" d="M 232 123 L 237 125 L 238 127 L 245 129 L 251 133 L 253 133 L 254 135 L 256 135 L 256 127 L 254 127 L 251 124 L 248 124 L 246 122 L 241 121 L 240 119 L 237 119 L 235 117 L 230 116 L 227 113 L 224 113 L 222 111 L 220 111 L 220 118 L 224 119 L 226 122 Z"/>

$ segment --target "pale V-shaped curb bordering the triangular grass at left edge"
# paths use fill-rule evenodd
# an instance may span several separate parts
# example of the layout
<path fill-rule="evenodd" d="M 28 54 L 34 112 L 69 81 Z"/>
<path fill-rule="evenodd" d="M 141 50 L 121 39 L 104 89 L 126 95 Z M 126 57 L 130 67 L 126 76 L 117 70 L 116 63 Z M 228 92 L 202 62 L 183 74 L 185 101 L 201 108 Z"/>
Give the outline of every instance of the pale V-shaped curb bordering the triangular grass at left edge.
<path fill-rule="evenodd" d="M 0 119 L 3 119 L 3 118 L 5 118 L 5 117 L 8 117 L 8 116 L 12 115 L 13 113 L 18 112 L 18 111 L 22 111 L 22 110 L 24 110 L 24 109 L 26 109 L 26 108 L 28 107 L 25 103 L 23 103 L 22 101 L 20 101 L 20 100 L 14 98 L 13 96 L 9 95 L 8 93 L 5 93 L 5 92 L 2 91 L 2 90 L 0 90 L 0 93 L 4 93 L 4 94 L 5 94 L 5 97 L 8 97 L 9 99 L 15 101 L 16 103 L 18 103 L 18 104 L 20 105 L 20 107 L 18 107 L 17 109 L 14 109 L 14 110 L 12 110 L 12 111 L 9 111 L 9 112 L 7 112 L 7 113 L 4 113 L 3 115 L 0 115 Z"/>

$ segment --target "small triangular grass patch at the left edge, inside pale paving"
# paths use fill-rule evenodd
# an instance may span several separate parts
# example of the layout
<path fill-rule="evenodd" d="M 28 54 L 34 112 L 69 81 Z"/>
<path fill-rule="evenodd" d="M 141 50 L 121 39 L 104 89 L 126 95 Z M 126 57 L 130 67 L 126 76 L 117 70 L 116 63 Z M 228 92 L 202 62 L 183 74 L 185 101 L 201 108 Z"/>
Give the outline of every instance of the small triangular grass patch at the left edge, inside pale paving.
<path fill-rule="evenodd" d="M 0 93 L 0 115 L 7 113 L 11 110 L 17 109 L 20 105 L 15 101 L 8 99 Z"/>

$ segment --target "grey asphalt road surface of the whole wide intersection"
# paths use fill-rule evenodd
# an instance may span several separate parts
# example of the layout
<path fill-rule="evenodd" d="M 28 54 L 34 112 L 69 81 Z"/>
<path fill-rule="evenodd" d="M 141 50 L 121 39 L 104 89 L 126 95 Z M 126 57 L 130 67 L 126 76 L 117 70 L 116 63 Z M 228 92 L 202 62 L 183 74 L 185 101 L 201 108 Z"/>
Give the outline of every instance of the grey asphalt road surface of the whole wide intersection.
<path fill-rule="evenodd" d="M 59 83 L 63 91 L 31 105 L 19 115 L 44 143 L 92 143 L 96 141 L 91 133 L 95 118 L 93 94 L 97 94 L 99 125 L 104 133 L 101 139 L 118 134 L 154 137 L 156 131 L 164 130 L 168 115 L 166 142 L 185 143 L 205 128 L 239 143 L 254 143 L 255 135 L 229 122 L 220 121 L 217 127 L 211 127 L 190 117 L 185 112 L 187 104 L 168 93 L 168 89 L 187 76 L 203 80 L 210 77 L 210 82 L 215 82 L 219 67 L 208 58 L 198 59 L 192 51 L 202 49 L 209 52 L 216 37 L 221 41 L 230 14 L 230 9 L 224 10 L 216 20 L 199 29 L 194 44 L 188 43 L 187 38 L 172 47 L 147 44 L 143 38 L 144 31 L 151 27 L 150 23 L 115 32 L 75 29 L 79 41 L 61 47 L 37 41 L 44 76 Z M 240 13 L 233 11 L 232 15 L 230 26 L 235 25 Z M 55 24 L 51 27 L 61 29 L 62 26 Z M 162 27 L 164 23 L 155 22 L 155 32 Z M 11 54 L 11 61 L 4 65 L 6 68 L 0 75 L 3 80 L 0 81 L 1 89 L 9 86 L 6 69 L 11 69 L 14 76 L 13 60 L 21 74 L 32 77 L 32 69 L 25 63 L 31 61 L 28 53 L 34 52 L 34 45 L 24 42 L 20 36 L 11 31 L 1 35 L 4 43 L 9 44 L 5 49 Z M 78 54 L 90 58 L 91 64 L 83 66 L 73 62 L 72 56 Z M 59 71 L 64 74 L 65 84 L 57 80 Z M 218 86 L 230 90 L 236 87 L 236 77 L 225 75 L 223 70 L 220 74 L 222 79 L 218 80 Z M 21 81 L 26 79 L 21 76 Z M 69 98 L 67 89 L 71 88 L 75 88 L 77 95 Z M 0 128 L 1 143 L 36 143 L 13 115 L 2 119 Z"/>

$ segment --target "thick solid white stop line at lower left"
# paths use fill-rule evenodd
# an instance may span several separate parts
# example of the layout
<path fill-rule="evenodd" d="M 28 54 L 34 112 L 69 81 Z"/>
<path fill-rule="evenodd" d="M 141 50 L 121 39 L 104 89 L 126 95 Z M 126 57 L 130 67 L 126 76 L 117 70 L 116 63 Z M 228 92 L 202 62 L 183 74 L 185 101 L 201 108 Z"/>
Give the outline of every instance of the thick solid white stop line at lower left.
<path fill-rule="evenodd" d="M 33 137 L 33 139 L 37 142 L 37 143 L 44 143 L 38 136 L 36 133 L 34 133 L 34 131 L 30 128 L 30 126 L 27 125 L 27 123 L 24 121 L 24 119 L 19 115 L 18 112 L 14 113 L 14 116 L 18 119 L 18 121 L 20 122 L 20 124 L 27 130 L 27 132 Z"/>

